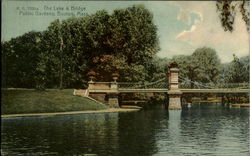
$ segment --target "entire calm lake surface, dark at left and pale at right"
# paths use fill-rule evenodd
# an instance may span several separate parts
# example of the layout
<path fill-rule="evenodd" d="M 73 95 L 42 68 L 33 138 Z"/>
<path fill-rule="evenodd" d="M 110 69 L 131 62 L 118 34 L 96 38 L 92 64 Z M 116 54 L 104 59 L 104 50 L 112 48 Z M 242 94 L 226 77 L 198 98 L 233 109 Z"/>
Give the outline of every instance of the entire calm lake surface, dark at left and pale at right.
<path fill-rule="evenodd" d="M 248 108 L 2 119 L 2 155 L 249 156 Z"/>

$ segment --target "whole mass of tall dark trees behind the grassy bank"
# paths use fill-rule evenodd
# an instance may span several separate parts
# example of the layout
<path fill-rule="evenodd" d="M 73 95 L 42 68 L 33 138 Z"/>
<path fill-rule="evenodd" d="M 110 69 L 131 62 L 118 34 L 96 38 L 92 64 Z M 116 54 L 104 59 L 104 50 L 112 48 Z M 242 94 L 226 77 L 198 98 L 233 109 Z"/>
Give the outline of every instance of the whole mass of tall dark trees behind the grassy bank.
<path fill-rule="evenodd" d="M 122 81 L 151 78 L 159 50 L 153 15 L 144 6 L 105 10 L 53 21 L 43 32 L 30 32 L 2 43 L 6 87 L 84 88 L 91 70 L 97 81 L 114 72 Z M 27 63 L 28 62 L 28 63 Z M 148 70 L 150 69 L 150 70 Z"/>

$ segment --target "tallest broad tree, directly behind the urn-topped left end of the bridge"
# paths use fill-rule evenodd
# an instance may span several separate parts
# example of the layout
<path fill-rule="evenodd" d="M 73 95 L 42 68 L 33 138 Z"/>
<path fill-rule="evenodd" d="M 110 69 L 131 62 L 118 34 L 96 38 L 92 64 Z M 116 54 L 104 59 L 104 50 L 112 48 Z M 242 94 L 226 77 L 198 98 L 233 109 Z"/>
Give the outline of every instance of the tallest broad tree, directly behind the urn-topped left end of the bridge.
<path fill-rule="evenodd" d="M 159 46 L 153 15 L 147 9 L 139 5 L 117 9 L 111 15 L 102 11 L 98 12 L 98 16 L 90 17 L 88 22 L 91 23 L 87 24 L 91 41 L 90 68 L 102 74 L 106 73 L 102 80 L 107 80 L 112 72 L 122 74 L 123 81 L 151 78 L 149 75 L 152 72 L 148 69 L 152 68 L 150 62 Z M 116 60 L 110 60 L 112 57 Z M 123 64 L 123 67 L 119 67 L 117 62 Z M 107 67 L 107 64 L 108 68 L 102 67 Z"/>

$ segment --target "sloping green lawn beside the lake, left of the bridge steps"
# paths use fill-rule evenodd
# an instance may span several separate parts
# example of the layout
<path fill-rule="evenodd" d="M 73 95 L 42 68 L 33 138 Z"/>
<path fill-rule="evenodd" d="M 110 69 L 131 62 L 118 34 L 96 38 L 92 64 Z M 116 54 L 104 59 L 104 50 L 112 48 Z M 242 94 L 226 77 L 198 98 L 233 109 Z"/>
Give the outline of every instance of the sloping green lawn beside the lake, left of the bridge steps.
<path fill-rule="evenodd" d="M 49 113 L 101 110 L 108 106 L 94 100 L 74 96 L 73 89 L 7 89 L 2 90 L 2 114 Z"/>

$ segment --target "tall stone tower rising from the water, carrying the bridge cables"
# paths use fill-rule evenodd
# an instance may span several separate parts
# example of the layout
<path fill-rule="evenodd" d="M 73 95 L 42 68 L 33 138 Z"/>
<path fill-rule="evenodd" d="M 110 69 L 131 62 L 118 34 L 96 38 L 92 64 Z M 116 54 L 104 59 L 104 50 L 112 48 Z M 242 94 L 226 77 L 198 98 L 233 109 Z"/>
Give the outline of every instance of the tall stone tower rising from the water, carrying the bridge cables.
<path fill-rule="evenodd" d="M 168 66 L 168 109 L 169 110 L 181 110 L 181 95 L 182 92 L 179 90 L 178 81 L 178 64 L 172 62 Z"/>

